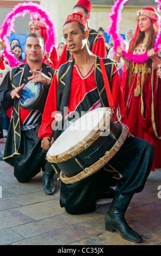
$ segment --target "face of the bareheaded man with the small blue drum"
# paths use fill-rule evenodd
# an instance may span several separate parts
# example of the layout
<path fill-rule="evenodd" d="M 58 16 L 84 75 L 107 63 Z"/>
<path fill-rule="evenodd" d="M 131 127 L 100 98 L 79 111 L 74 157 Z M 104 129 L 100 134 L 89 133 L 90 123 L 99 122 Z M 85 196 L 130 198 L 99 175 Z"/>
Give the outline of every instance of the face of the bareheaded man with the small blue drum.
<path fill-rule="evenodd" d="M 45 47 L 40 38 L 28 37 L 24 50 L 28 60 L 31 62 L 40 62 L 43 59 Z"/>

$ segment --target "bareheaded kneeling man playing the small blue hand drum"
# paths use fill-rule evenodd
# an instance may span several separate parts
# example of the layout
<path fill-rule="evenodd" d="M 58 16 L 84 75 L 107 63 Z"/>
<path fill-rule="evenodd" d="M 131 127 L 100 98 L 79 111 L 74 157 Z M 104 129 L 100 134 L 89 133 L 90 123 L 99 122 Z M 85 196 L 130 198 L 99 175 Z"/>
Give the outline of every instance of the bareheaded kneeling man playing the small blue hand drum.
<path fill-rule="evenodd" d="M 14 167 L 14 175 L 19 182 L 29 181 L 40 172 L 41 168 L 45 170 L 45 193 L 53 194 L 55 189 L 53 183 L 51 184 L 53 170 L 45 159 L 41 139 L 38 138 L 42 113 L 36 109 L 36 106 L 33 110 L 20 107 L 20 94 L 28 82 L 41 82 L 44 91 L 48 93 L 54 70 L 42 62 L 44 50 L 44 39 L 41 35 L 36 33 L 28 35 L 25 46 L 27 64 L 8 72 L 1 85 L 1 109 L 7 110 L 13 106 L 3 160 Z"/>

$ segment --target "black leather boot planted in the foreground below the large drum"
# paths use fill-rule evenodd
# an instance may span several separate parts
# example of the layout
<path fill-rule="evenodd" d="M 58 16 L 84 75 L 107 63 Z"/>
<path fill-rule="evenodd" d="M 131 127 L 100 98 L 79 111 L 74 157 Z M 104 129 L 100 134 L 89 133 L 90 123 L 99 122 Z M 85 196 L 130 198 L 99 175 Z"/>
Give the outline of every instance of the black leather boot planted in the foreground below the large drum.
<path fill-rule="evenodd" d="M 117 230 L 123 239 L 128 241 L 140 243 L 143 241 L 142 237 L 135 232 L 125 220 L 125 212 L 133 194 L 126 194 L 123 196 L 116 192 L 112 204 L 110 205 L 107 215 L 105 217 L 105 227 L 107 231 L 113 232 Z"/>

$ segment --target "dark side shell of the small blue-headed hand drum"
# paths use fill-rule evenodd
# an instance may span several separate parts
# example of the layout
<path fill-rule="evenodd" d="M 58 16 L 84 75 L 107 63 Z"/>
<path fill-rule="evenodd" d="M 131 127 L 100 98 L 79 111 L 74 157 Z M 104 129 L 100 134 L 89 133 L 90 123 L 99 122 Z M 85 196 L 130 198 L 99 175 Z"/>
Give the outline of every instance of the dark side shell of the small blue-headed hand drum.
<path fill-rule="evenodd" d="M 44 112 L 45 103 L 48 95 L 48 87 L 42 83 L 38 84 L 38 93 L 36 94 L 34 100 L 27 105 L 23 104 L 20 100 L 20 106 L 23 109 L 28 110 L 39 110 L 41 113 Z"/>

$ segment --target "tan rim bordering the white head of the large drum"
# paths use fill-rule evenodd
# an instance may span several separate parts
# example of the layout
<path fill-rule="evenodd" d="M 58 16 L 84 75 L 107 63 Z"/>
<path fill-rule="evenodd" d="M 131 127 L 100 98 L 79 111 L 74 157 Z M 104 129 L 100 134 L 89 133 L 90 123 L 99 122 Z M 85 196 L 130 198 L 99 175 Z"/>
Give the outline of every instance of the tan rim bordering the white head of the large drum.
<path fill-rule="evenodd" d="M 96 109 L 94 109 L 96 110 Z M 103 115 L 103 124 L 106 123 L 107 118 L 110 120 L 113 117 L 112 110 L 109 107 L 104 107 L 104 115 Z M 88 136 L 82 143 L 77 143 L 74 147 L 71 147 L 68 151 L 64 151 L 63 153 L 55 156 L 49 155 L 49 150 L 46 155 L 46 159 L 48 162 L 51 163 L 58 163 L 58 162 L 64 162 L 66 160 L 71 159 L 73 156 L 76 156 L 80 153 L 82 153 L 86 148 L 89 148 L 92 143 L 98 139 L 102 133 L 106 130 L 106 126 L 98 127 L 96 131 L 91 131 L 90 137 Z"/>

